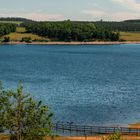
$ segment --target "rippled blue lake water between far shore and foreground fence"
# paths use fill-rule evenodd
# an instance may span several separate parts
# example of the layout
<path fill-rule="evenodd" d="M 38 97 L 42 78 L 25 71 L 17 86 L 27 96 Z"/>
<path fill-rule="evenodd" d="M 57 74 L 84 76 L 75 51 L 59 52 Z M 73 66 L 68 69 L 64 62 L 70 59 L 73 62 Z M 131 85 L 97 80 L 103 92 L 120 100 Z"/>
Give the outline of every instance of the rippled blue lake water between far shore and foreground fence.
<path fill-rule="evenodd" d="M 0 80 L 22 81 L 57 121 L 140 121 L 140 45 L 0 45 Z"/>

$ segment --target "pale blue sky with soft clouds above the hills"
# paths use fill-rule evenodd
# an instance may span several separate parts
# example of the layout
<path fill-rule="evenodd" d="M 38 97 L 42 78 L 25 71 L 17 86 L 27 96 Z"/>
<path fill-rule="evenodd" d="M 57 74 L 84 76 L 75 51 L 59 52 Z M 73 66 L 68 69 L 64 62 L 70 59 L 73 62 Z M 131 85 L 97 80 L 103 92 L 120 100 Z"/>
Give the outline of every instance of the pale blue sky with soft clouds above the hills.
<path fill-rule="evenodd" d="M 140 0 L 0 0 L 0 17 L 38 21 L 140 19 Z"/>

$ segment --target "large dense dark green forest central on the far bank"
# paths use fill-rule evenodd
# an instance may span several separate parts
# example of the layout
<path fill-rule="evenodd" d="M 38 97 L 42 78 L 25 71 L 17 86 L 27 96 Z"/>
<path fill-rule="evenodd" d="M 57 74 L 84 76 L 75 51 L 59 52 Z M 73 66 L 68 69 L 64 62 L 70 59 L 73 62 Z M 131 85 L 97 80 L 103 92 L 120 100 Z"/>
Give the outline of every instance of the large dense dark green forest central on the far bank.
<path fill-rule="evenodd" d="M 119 33 L 93 23 L 82 22 L 38 22 L 25 24 L 29 33 L 47 36 L 55 41 L 117 41 Z"/>

